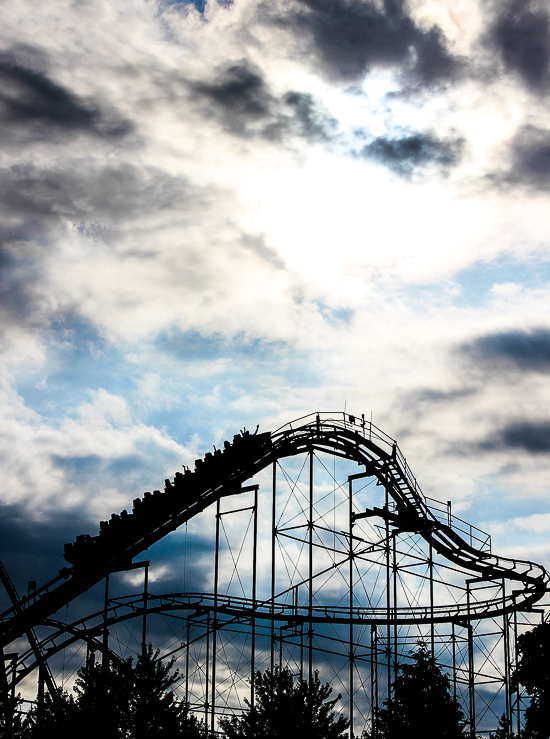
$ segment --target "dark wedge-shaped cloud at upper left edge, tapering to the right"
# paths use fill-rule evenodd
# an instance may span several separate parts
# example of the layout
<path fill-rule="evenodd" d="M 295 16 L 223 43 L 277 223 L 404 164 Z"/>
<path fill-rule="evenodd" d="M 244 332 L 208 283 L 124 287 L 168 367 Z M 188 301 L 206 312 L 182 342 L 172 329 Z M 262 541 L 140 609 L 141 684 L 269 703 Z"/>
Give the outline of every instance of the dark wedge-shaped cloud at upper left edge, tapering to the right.
<path fill-rule="evenodd" d="M 0 121 L 8 141 L 24 142 L 88 133 L 121 137 L 132 126 L 106 106 L 84 102 L 44 72 L 0 57 Z"/>

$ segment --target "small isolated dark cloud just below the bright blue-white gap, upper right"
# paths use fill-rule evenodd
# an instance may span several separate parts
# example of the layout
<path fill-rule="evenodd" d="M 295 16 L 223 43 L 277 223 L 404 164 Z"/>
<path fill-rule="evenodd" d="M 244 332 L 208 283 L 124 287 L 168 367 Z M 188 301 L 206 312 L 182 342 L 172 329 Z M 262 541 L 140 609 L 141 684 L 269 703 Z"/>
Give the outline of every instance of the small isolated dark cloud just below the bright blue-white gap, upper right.
<path fill-rule="evenodd" d="M 416 133 L 403 138 L 380 136 L 367 144 L 361 156 L 384 164 L 397 174 L 408 177 L 428 164 L 449 169 L 458 164 L 462 139 L 438 139 L 431 134 Z"/>

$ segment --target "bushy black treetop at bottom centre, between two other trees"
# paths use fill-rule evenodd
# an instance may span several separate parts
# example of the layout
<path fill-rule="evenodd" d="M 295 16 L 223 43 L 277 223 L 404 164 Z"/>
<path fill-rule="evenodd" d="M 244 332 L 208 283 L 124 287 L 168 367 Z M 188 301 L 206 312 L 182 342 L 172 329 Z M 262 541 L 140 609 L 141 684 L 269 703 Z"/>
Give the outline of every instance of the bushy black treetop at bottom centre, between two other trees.
<path fill-rule="evenodd" d="M 343 739 L 349 721 L 334 712 L 342 697 L 329 699 L 332 688 L 322 684 L 319 673 L 295 681 L 288 668 L 258 670 L 254 681 L 254 705 L 242 717 L 220 720 L 228 739 Z"/>

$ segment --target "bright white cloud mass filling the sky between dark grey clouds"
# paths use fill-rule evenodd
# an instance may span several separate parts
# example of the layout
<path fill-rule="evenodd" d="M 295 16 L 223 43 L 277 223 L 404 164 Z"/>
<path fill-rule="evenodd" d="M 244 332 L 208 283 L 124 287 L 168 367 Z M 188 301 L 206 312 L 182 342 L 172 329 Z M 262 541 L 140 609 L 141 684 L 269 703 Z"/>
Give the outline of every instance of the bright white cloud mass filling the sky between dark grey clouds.
<path fill-rule="evenodd" d="M 10 229 L 41 229 L 8 254 L 29 299 L 5 326 L 4 502 L 99 518 L 244 423 L 272 429 L 347 402 L 398 437 L 428 495 L 474 522 L 502 490 L 540 504 L 546 456 L 480 444 L 547 417 L 547 376 L 480 368 L 456 347 L 547 322 L 543 278 L 511 267 L 479 286 L 475 275 L 503 258 L 534 273 L 546 259 L 546 198 L 502 173 L 518 128 L 550 123 L 517 80 L 480 73 L 491 60 L 479 3 L 412 6 L 467 62 L 463 79 L 419 97 L 395 94 L 387 70 L 351 88 L 327 81 L 304 39 L 260 22 L 253 0 L 211 2 L 205 18 L 140 0 L 4 3 L 14 59 L 132 126 L 119 138 L 44 134 L 7 153 Z M 277 114 L 286 92 L 311 94 L 337 120 L 333 140 L 270 138 L 261 116 L 248 135 L 231 129 L 237 113 L 197 85 L 241 63 Z M 417 131 L 464 139 L 462 161 L 403 179 L 359 155 L 373 136 Z M 86 354 L 67 316 L 122 356 Z M 187 333 L 198 356 L 178 345 Z M 21 389 L 29 377 L 35 395 Z M 545 526 L 537 515 L 525 521 Z"/>

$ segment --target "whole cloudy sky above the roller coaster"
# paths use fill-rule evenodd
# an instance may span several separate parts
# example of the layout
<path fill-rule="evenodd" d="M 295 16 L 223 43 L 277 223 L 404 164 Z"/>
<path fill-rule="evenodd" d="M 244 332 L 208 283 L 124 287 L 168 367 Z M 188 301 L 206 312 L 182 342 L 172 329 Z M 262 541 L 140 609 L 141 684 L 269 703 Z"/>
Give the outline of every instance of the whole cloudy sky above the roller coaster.
<path fill-rule="evenodd" d="M 243 427 L 344 409 L 550 567 L 547 3 L 0 13 L 16 586 Z"/>

